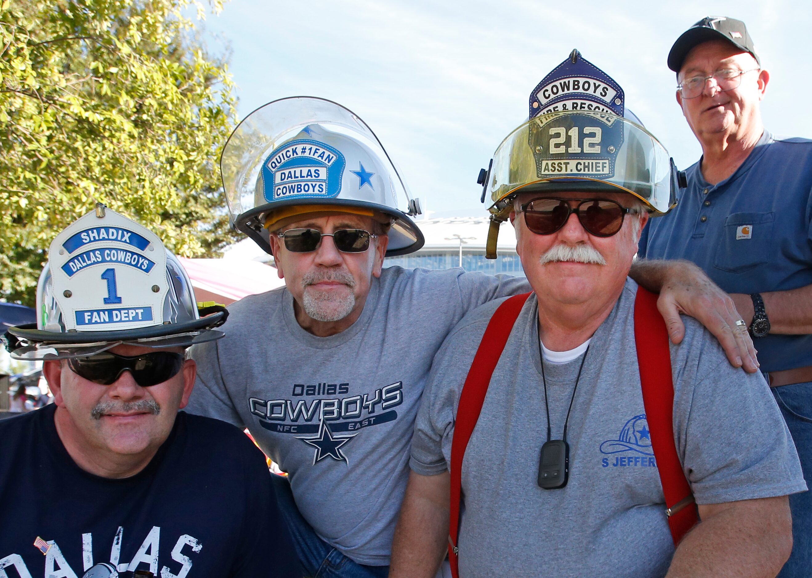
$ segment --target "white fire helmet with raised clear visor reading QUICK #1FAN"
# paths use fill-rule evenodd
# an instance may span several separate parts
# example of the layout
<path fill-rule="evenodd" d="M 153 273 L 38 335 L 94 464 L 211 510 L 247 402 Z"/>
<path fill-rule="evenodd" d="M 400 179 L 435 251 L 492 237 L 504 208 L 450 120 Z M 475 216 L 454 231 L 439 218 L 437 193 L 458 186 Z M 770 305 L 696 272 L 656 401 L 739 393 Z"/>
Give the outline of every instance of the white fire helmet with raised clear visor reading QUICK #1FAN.
<path fill-rule="evenodd" d="M 233 226 L 266 252 L 276 223 L 335 210 L 391 224 L 387 257 L 423 246 L 410 218 L 419 202 L 374 132 L 335 102 L 288 97 L 254 110 L 231 133 L 220 170 Z"/>

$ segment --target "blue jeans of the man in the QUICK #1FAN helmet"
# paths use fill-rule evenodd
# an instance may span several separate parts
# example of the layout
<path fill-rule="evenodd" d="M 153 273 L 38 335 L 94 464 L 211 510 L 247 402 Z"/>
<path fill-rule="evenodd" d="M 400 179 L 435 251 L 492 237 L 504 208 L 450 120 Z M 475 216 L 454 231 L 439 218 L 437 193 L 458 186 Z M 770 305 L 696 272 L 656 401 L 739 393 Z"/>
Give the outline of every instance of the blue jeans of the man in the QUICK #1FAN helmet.
<path fill-rule="evenodd" d="M 387 578 L 388 566 L 365 566 L 347 556 L 318 537 L 313 527 L 304 520 L 293 500 L 287 478 L 274 478 L 274 492 L 279 511 L 287 522 L 293 548 L 307 578 Z"/>

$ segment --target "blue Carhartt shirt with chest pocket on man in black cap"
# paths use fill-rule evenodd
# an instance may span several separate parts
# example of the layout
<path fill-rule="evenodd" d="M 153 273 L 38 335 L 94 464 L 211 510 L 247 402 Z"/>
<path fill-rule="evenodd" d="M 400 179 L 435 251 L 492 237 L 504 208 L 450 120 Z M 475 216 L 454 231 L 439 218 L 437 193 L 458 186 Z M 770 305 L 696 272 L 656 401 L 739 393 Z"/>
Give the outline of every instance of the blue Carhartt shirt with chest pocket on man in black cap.
<path fill-rule="evenodd" d="M 738 170 L 715 185 L 702 177 L 701 163 L 686 171 L 679 204 L 650 219 L 638 255 L 693 261 L 728 293 L 812 284 L 812 140 L 765 131 Z M 755 346 L 762 371 L 812 365 L 812 335 L 769 334 Z"/>

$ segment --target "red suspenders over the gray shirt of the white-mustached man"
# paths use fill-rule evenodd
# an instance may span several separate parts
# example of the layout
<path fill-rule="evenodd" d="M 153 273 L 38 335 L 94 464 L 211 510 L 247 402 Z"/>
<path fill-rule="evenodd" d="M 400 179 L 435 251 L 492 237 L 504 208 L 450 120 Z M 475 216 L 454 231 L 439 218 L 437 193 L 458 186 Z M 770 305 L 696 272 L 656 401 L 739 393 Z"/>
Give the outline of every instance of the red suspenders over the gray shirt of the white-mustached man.
<path fill-rule="evenodd" d="M 451 441 L 451 515 L 449 518 L 448 559 L 451 574 L 459 578 L 457 538 L 460 535 L 460 500 L 462 462 L 473 429 L 477 425 L 482 403 L 490 385 L 490 377 L 502 356 L 516 318 L 529 293 L 514 295 L 499 305 L 482 336 L 473 358 L 468 377 L 457 407 L 454 438 Z M 643 405 L 651 432 L 651 445 L 657 461 L 666 502 L 666 515 L 674 544 L 678 544 L 689 529 L 699 521 L 693 506 L 693 494 L 682 471 L 676 453 L 672 413 L 674 386 L 671 355 L 665 321 L 657 309 L 657 295 L 642 287 L 637 289 L 634 303 L 634 335 L 637 344 L 637 364 L 643 393 Z M 685 507 L 689 506 L 690 507 Z"/>

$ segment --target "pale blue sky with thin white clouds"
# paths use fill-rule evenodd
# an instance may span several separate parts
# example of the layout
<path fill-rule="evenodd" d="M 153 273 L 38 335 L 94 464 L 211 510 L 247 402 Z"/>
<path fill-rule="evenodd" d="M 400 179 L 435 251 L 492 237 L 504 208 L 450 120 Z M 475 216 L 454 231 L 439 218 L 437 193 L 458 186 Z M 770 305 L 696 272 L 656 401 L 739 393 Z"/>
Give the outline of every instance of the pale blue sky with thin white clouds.
<path fill-rule="evenodd" d="M 799 7 L 803 6 L 803 7 Z M 378 134 L 432 216 L 483 214 L 478 170 L 573 48 L 617 80 L 680 168 L 700 149 L 665 60 L 705 15 L 743 19 L 771 82 L 771 132 L 812 137 L 812 9 L 801 2 L 231 0 L 205 21 L 231 50 L 243 118 L 276 98 L 337 101 Z"/>

